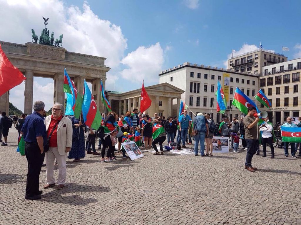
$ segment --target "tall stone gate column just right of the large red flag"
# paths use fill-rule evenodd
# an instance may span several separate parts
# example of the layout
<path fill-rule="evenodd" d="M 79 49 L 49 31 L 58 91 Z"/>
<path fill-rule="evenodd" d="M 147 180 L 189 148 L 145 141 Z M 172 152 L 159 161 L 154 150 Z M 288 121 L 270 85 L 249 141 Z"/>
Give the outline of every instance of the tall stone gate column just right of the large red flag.
<path fill-rule="evenodd" d="M 33 70 L 25 70 L 25 76 L 24 113 L 30 115 L 33 112 Z"/>

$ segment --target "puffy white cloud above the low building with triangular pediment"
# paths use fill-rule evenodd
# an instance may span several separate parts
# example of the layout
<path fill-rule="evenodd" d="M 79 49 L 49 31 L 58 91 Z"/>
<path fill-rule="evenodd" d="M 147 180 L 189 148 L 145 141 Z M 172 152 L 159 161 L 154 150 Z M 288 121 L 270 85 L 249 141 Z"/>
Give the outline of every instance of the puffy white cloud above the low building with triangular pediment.
<path fill-rule="evenodd" d="M 162 70 L 164 62 L 163 49 L 160 43 L 149 47 L 139 46 L 121 61 L 128 68 L 120 72 L 124 79 L 131 82 L 157 81 L 157 74 Z"/>

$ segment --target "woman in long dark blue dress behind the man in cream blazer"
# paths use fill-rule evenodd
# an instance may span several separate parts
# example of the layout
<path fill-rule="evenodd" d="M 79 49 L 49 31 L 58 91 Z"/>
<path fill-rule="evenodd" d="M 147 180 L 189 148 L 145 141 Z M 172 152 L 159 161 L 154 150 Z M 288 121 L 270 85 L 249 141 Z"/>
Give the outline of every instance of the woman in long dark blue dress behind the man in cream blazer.
<path fill-rule="evenodd" d="M 74 159 L 73 162 L 78 162 L 80 158 L 85 158 L 85 135 L 82 128 L 85 128 L 86 125 L 74 116 L 69 116 L 69 119 L 72 122 L 73 139 L 68 159 Z"/>

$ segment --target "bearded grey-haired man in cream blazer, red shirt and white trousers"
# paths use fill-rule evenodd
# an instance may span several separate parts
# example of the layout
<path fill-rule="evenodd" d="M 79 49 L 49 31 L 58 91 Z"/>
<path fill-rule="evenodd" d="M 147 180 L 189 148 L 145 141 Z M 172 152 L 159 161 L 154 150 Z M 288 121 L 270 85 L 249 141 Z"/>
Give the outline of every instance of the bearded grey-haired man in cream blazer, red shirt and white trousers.
<path fill-rule="evenodd" d="M 55 185 L 53 177 L 54 160 L 57 159 L 58 164 L 58 186 L 57 189 L 62 189 L 66 181 L 66 158 L 67 152 L 70 152 L 72 146 L 72 122 L 69 118 L 64 117 L 64 106 L 60 103 L 55 103 L 52 107 L 52 115 L 45 119 L 47 137 L 52 135 L 49 140 L 49 151 L 46 156 L 46 174 L 47 184 L 44 188 L 49 188 Z"/>

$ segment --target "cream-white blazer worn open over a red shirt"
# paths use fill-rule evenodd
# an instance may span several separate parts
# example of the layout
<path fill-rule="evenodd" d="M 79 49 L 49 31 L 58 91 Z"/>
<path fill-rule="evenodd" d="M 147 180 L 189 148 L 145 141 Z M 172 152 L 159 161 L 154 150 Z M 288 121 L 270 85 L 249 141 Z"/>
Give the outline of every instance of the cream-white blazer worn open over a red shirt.
<path fill-rule="evenodd" d="M 45 118 L 46 130 L 48 131 L 51 122 L 51 115 Z M 63 116 L 57 125 L 57 150 L 60 155 L 66 155 L 66 147 L 72 146 L 72 122 L 69 118 Z"/>

